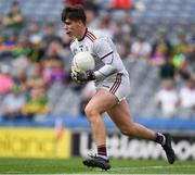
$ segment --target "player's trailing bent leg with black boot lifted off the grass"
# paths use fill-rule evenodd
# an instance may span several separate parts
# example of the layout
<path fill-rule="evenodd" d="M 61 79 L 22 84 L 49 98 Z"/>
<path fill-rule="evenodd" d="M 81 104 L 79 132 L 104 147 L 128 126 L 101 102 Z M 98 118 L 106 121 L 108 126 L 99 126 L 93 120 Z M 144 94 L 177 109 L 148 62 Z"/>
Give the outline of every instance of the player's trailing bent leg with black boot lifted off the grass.
<path fill-rule="evenodd" d="M 148 129 L 143 125 L 134 123 L 126 100 L 122 100 L 120 103 L 107 110 L 107 113 L 122 134 L 136 138 L 154 140 L 160 143 L 167 154 L 169 163 L 172 164 L 174 162 L 176 155 L 171 147 L 170 135 L 162 135 Z"/>

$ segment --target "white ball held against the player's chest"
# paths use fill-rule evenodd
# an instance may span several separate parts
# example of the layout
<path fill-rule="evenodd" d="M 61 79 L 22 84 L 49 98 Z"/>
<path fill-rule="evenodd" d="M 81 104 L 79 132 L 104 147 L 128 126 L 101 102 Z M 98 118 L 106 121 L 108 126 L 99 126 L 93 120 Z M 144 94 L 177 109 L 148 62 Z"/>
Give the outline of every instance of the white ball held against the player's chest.
<path fill-rule="evenodd" d="M 79 71 L 86 72 L 94 70 L 95 61 L 90 52 L 78 52 L 73 59 L 73 66 Z"/>

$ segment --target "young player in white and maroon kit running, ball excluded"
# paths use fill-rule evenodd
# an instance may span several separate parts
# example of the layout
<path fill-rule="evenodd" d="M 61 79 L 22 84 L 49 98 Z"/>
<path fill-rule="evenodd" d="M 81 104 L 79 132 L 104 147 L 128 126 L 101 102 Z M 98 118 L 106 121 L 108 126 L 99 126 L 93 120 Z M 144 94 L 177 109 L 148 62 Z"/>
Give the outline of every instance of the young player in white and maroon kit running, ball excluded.
<path fill-rule="evenodd" d="M 95 80 L 96 93 L 86 107 L 86 115 L 91 126 L 98 152 L 83 160 L 83 164 L 103 170 L 110 168 L 106 150 L 106 129 L 101 114 L 107 112 L 123 135 L 153 140 L 160 143 L 168 162 L 176 160 L 171 147 L 171 137 L 151 130 L 134 123 L 126 97 L 130 91 L 130 80 L 120 55 L 108 36 L 95 33 L 86 25 L 84 10 L 80 5 L 66 7 L 62 12 L 62 22 L 66 34 L 74 37 L 70 50 L 75 55 L 90 51 L 96 62 L 95 71 L 81 73 L 72 68 L 72 77 L 81 83 Z"/>

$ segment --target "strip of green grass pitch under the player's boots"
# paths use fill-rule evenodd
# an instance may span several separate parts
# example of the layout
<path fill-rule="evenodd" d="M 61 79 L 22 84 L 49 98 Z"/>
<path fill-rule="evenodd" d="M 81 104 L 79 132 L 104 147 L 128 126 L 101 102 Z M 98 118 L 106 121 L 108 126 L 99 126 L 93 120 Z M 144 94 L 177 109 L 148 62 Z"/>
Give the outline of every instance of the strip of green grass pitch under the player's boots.
<path fill-rule="evenodd" d="M 195 174 L 195 161 L 112 159 L 112 170 L 105 172 L 82 165 L 81 158 L 16 159 L 0 158 L 0 174 Z"/>

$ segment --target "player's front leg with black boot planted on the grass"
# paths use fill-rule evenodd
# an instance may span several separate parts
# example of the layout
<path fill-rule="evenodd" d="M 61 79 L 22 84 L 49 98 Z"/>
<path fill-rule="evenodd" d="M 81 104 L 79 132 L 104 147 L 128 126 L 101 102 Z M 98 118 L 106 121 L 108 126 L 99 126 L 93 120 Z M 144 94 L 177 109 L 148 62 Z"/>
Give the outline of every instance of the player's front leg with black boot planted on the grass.
<path fill-rule="evenodd" d="M 84 160 L 84 165 L 98 166 L 104 170 L 110 168 L 106 153 L 106 129 L 101 114 L 116 103 L 117 98 L 114 95 L 107 90 L 100 89 L 87 104 L 84 111 L 98 147 L 98 157 Z"/>

